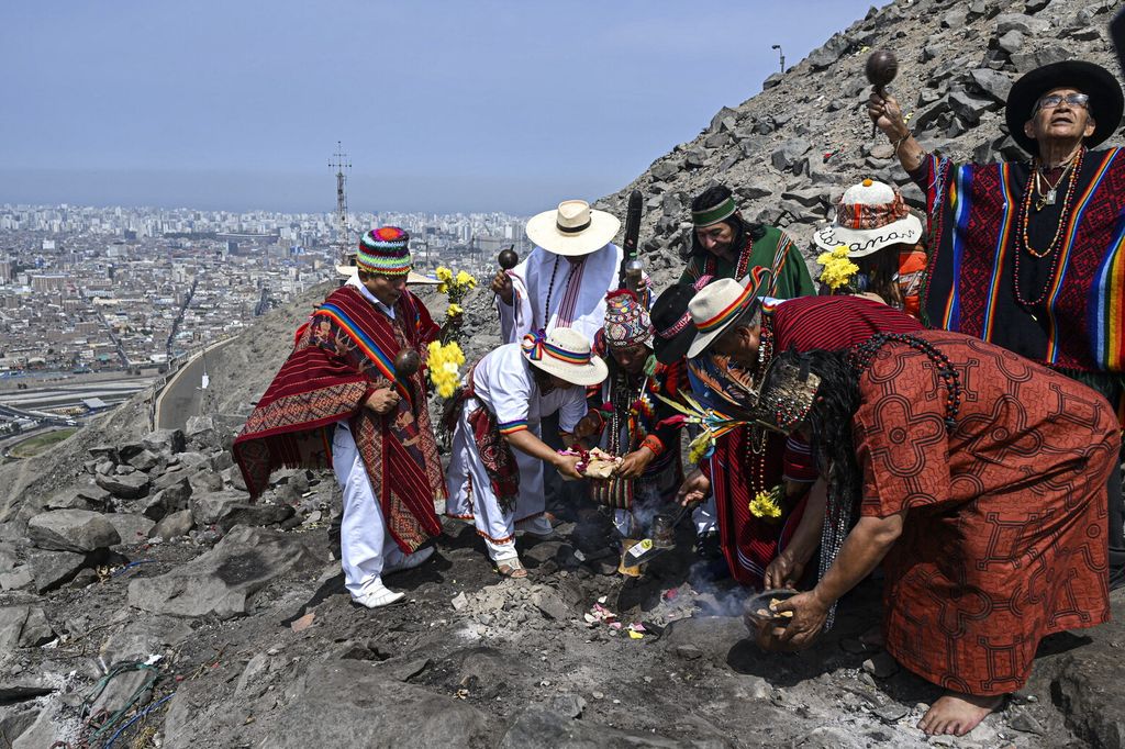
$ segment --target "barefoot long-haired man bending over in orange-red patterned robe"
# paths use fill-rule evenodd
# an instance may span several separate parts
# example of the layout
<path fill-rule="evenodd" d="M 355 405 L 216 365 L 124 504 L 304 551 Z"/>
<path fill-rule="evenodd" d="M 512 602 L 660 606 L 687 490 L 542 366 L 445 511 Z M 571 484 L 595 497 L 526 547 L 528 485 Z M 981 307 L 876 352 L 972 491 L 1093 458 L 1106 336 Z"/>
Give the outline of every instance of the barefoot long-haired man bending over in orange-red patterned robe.
<path fill-rule="evenodd" d="M 947 331 L 785 352 L 756 417 L 800 431 L 828 480 L 816 587 L 767 648 L 803 648 L 881 562 L 883 637 L 946 693 L 919 728 L 963 736 L 1024 686 L 1040 641 L 1109 620 L 1106 478 L 1120 435 L 1094 389 Z M 852 518 L 857 516 L 857 522 Z"/>

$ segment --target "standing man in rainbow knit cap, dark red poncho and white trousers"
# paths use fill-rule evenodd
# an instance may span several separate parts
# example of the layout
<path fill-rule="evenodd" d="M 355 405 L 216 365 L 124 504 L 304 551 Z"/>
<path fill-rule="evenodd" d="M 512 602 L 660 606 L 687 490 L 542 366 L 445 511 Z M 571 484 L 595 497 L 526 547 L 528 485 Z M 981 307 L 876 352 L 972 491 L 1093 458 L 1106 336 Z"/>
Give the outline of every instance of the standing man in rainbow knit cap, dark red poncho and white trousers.
<path fill-rule="evenodd" d="M 433 507 L 446 497 L 424 368 L 407 367 L 441 328 L 406 289 L 408 243 L 397 226 L 363 235 L 357 272 L 298 331 L 233 450 L 251 496 L 282 466 L 332 466 L 344 585 L 369 608 L 403 597 L 382 576 L 433 553 L 422 544 L 441 533 Z"/>

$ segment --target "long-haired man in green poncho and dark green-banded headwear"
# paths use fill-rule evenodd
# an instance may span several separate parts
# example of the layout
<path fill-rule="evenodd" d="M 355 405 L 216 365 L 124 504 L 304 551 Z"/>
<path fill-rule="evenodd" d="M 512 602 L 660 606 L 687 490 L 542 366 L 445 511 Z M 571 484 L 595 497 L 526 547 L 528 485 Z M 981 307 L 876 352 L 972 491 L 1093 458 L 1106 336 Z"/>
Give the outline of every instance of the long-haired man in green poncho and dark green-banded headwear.
<path fill-rule="evenodd" d="M 801 252 L 785 232 L 742 218 L 730 188 L 710 187 L 692 200 L 691 245 L 681 254 L 687 267 L 681 283 L 696 289 L 720 278 L 745 278 L 757 265 L 773 273 L 766 292 L 778 299 L 816 294 Z"/>

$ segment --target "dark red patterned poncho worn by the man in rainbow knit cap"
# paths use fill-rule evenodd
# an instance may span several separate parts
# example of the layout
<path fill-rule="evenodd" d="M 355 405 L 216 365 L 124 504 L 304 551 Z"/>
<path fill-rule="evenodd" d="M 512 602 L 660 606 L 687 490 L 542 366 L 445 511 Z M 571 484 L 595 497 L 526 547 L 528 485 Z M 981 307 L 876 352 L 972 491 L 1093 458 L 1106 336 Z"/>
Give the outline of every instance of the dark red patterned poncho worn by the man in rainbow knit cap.
<path fill-rule="evenodd" d="M 405 553 L 441 532 L 434 499 L 446 485 L 426 410 L 425 370 L 398 378 L 403 348 L 425 351 L 439 327 L 404 290 L 394 318 L 359 288 L 333 291 L 297 334 L 296 346 L 234 442 L 246 488 L 258 496 L 270 473 L 286 467 L 331 468 L 332 435 L 346 422 L 354 435 L 386 529 Z M 385 415 L 362 407 L 374 390 L 394 383 L 397 406 Z"/>

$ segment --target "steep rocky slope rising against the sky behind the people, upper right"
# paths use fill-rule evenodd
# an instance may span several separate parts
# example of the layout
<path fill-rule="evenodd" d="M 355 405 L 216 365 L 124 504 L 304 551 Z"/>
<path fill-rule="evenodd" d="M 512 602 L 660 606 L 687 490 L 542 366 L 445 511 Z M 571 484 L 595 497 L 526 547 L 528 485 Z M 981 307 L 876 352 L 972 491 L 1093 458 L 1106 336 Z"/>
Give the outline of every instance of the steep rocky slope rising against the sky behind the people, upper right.
<path fill-rule="evenodd" d="M 762 93 L 716 112 L 694 141 L 657 159 L 600 207 L 623 215 L 630 191 L 641 191 L 645 261 L 664 280 L 690 242 L 692 198 L 712 183 L 730 187 L 747 218 L 785 227 L 802 247 L 830 220 L 844 189 L 864 178 L 898 183 L 921 206 L 921 191 L 885 136 L 872 137 L 863 72 L 871 51 L 898 55 L 890 90 L 924 147 L 964 161 L 1024 159 L 1002 124 L 1011 82 L 1068 58 L 1119 73 L 1106 31 L 1118 7 L 1117 0 L 899 0 L 872 8 L 784 74 L 767 78 Z M 1125 144 L 1123 133 L 1110 143 Z"/>

